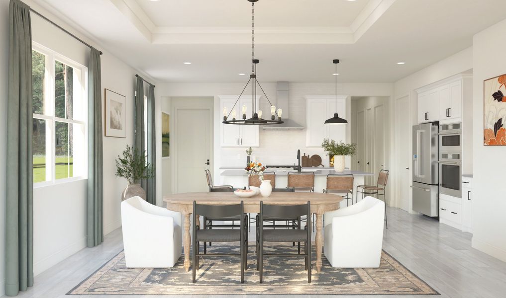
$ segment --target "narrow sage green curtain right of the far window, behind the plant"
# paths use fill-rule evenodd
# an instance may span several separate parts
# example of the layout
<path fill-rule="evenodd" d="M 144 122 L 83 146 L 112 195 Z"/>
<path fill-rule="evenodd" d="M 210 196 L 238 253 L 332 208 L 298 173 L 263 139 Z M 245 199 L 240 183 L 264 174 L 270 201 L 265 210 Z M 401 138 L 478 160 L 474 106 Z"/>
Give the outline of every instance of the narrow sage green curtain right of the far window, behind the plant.
<path fill-rule="evenodd" d="M 148 93 L 148 147 L 147 147 L 147 162 L 156 165 L 156 128 L 155 128 L 155 88 L 149 85 Z M 156 177 L 146 179 L 146 201 L 156 205 Z"/>

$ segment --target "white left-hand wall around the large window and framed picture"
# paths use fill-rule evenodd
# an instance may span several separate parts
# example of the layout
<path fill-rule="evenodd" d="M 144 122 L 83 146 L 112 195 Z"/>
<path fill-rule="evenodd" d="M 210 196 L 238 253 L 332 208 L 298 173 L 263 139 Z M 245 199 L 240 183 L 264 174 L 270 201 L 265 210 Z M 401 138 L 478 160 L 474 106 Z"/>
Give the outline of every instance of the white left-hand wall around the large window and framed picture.
<path fill-rule="evenodd" d="M 107 234 L 121 226 L 120 194 L 126 186 L 124 179 L 115 177 L 114 160 L 121 154 L 126 144 L 133 143 L 133 112 L 135 74 L 138 73 L 124 62 L 118 60 L 103 47 L 72 29 L 44 8 L 32 1 L 25 1 L 38 12 L 57 22 L 73 34 L 93 44 L 103 52 L 102 88 L 114 90 L 126 96 L 127 134 L 126 138 L 103 137 L 104 145 L 104 233 Z M 0 2 L 0 118 L 5 127 L 7 113 L 7 73 L 8 73 L 8 15 L 9 1 Z M 69 35 L 32 14 L 33 40 L 80 63 L 88 65 L 89 48 Z M 146 77 L 146 76 L 144 76 Z M 148 77 L 146 77 L 148 79 Z M 147 89 L 146 89 L 147 91 Z M 104 93 L 103 91 L 101 92 Z M 102 103 L 103 105 L 103 103 Z M 102 106 L 102 111 L 104 107 Z M 0 164 L 5 165 L 6 129 L 0 130 Z M 0 189 L 5 189 L 6 169 L 0 172 Z M 57 184 L 34 189 L 34 273 L 35 275 L 60 262 L 66 257 L 86 247 L 86 186 L 87 180 Z M 0 193 L 0 247 L 5 246 L 5 191 Z M 5 257 L 0 250 L 0 293 L 4 292 Z"/>

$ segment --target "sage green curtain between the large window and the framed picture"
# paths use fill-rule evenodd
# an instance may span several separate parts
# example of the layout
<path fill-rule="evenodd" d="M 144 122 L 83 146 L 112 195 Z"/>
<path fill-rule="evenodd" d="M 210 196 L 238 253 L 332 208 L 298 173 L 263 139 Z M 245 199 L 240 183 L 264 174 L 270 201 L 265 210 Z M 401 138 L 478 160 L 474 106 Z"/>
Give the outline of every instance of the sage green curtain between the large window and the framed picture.
<path fill-rule="evenodd" d="M 88 65 L 88 247 L 104 241 L 104 179 L 102 151 L 102 85 L 100 52 L 90 51 Z"/>

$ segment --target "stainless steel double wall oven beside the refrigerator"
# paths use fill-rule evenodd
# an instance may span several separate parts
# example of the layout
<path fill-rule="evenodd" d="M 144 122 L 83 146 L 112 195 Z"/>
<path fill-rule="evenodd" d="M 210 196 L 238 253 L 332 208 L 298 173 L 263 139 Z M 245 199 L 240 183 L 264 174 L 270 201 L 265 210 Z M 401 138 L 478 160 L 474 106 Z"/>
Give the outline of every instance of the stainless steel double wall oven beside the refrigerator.
<path fill-rule="evenodd" d="M 439 192 L 462 197 L 462 124 L 439 125 Z"/>

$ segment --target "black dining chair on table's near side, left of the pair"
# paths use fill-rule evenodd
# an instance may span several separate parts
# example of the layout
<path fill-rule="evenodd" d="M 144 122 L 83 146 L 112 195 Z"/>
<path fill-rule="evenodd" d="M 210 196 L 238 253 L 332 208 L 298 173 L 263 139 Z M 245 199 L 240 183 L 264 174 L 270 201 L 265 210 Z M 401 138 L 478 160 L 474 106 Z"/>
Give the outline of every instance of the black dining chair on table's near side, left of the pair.
<path fill-rule="evenodd" d="M 197 222 L 197 215 L 203 215 L 209 218 L 227 218 L 232 216 L 239 216 L 241 225 L 239 230 L 232 229 L 203 229 L 201 230 Z M 193 237 L 192 237 L 192 281 L 195 283 L 196 270 L 199 267 L 199 258 L 204 257 L 229 257 L 240 256 L 241 266 L 241 283 L 244 283 L 244 270 L 247 263 L 248 252 L 248 230 L 246 224 L 248 217 L 244 214 L 244 205 L 201 205 L 193 201 Z M 207 254 L 204 252 L 200 254 L 200 242 L 239 242 L 240 254 Z"/>

